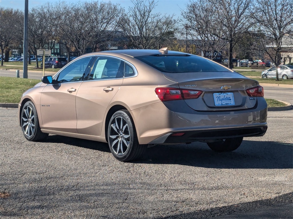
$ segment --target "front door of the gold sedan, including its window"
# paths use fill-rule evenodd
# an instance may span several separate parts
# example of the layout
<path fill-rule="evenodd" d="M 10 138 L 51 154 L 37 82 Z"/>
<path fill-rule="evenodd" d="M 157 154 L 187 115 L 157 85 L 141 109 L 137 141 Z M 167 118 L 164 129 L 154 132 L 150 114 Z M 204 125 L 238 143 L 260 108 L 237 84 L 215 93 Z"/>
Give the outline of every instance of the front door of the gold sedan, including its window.
<path fill-rule="evenodd" d="M 45 86 L 40 102 L 44 129 L 76 133 L 76 93 L 91 59 L 92 56 L 72 62 L 54 77 L 54 84 Z"/>

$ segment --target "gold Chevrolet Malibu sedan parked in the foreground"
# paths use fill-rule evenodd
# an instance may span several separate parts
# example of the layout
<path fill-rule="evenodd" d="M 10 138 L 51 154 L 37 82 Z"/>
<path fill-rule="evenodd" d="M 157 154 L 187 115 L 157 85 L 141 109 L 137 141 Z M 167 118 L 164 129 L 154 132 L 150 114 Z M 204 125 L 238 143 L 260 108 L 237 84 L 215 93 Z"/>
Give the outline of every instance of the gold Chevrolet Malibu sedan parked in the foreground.
<path fill-rule="evenodd" d="M 117 50 L 82 55 L 23 93 L 25 138 L 49 133 L 108 142 L 120 161 L 157 144 L 206 142 L 236 150 L 263 136 L 267 103 L 258 81 L 197 55 Z"/>

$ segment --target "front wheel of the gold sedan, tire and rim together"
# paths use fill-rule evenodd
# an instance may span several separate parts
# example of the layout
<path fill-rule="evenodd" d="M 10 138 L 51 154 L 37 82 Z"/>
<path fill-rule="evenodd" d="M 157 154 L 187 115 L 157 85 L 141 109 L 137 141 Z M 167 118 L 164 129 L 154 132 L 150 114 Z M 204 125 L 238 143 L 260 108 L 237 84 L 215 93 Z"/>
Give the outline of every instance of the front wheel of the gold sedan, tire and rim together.
<path fill-rule="evenodd" d="M 21 129 L 24 137 L 29 141 L 40 141 L 47 138 L 40 128 L 37 110 L 32 101 L 23 105 L 21 110 Z"/>

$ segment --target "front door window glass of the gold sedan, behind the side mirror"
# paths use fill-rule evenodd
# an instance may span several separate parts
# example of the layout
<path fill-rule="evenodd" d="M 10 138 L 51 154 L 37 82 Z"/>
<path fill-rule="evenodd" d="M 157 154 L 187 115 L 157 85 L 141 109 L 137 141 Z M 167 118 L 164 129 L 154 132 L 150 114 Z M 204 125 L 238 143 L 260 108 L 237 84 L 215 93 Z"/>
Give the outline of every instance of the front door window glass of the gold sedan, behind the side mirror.
<path fill-rule="evenodd" d="M 58 83 L 81 81 L 90 67 L 92 57 L 82 58 L 67 65 L 58 75 Z"/>

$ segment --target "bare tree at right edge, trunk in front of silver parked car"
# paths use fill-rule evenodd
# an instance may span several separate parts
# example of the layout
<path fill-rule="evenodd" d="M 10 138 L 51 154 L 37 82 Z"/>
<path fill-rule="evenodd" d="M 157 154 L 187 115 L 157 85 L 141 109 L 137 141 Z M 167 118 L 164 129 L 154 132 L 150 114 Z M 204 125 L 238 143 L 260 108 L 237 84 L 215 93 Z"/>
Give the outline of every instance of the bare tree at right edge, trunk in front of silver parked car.
<path fill-rule="evenodd" d="M 293 2 L 291 0 L 255 0 L 253 8 L 251 16 L 260 24 L 258 28 L 264 34 L 260 44 L 276 65 L 276 81 L 278 81 L 281 53 L 290 49 L 287 46 L 292 46 L 293 42 Z"/>

